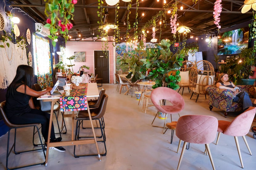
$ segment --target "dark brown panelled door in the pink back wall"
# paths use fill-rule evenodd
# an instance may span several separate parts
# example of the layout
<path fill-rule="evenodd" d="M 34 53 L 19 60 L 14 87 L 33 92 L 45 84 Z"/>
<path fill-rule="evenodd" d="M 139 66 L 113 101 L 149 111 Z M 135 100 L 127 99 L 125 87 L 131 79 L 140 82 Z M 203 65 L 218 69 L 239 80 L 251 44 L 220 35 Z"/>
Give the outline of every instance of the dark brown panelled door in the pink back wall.
<path fill-rule="evenodd" d="M 94 51 L 95 76 L 102 79 L 102 83 L 109 83 L 109 51 Z M 106 55 L 107 54 L 107 55 Z"/>

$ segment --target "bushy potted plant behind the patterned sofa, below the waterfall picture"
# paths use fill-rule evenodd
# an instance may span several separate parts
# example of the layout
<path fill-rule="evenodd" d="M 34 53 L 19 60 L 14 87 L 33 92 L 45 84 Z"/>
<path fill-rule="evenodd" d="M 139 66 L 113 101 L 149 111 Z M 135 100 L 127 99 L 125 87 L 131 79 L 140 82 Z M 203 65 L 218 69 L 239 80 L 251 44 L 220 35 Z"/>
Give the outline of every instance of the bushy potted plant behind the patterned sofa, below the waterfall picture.
<path fill-rule="evenodd" d="M 232 56 L 226 67 L 231 75 L 232 81 L 236 84 L 254 84 L 252 66 L 255 66 L 256 57 L 252 48 L 245 48 L 238 54 L 238 57 Z M 250 82 L 250 83 L 249 83 Z"/>

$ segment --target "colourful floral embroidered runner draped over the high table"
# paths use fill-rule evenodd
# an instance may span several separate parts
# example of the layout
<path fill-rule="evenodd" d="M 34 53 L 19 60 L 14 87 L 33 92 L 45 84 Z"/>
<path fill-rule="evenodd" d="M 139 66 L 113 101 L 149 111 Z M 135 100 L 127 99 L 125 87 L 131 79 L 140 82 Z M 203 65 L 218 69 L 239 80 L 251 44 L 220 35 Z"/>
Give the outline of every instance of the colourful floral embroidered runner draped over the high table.
<path fill-rule="evenodd" d="M 72 89 L 70 91 L 70 96 L 61 96 L 60 111 L 87 110 L 87 89 L 88 83 L 85 83 L 85 88 Z"/>

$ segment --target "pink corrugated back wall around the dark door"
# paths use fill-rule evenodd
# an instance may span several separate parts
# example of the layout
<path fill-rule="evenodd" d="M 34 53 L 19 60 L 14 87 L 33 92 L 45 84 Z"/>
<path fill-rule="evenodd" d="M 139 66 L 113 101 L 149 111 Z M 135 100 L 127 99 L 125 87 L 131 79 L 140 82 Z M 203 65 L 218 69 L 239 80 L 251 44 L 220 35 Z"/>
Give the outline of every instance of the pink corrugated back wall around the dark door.
<path fill-rule="evenodd" d="M 114 46 L 111 42 L 109 44 L 109 80 L 110 84 L 114 83 Z M 89 73 L 94 74 L 94 51 L 101 51 L 102 43 L 100 41 L 68 41 L 66 43 L 66 57 L 74 55 L 74 52 L 85 52 L 85 62 L 75 62 L 73 66 L 74 72 L 78 71 L 80 66 L 86 65 L 90 67 Z M 73 63 L 72 63 L 73 64 Z M 101 77 L 98 77 L 101 78 Z"/>

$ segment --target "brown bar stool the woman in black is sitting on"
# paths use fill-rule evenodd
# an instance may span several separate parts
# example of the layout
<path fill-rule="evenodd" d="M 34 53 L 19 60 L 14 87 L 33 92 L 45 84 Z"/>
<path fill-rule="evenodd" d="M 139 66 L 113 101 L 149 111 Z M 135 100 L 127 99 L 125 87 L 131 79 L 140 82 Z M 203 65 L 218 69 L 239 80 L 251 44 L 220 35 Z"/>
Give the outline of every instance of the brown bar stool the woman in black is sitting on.
<path fill-rule="evenodd" d="M 40 133 L 39 133 L 39 123 L 31 123 L 31 124 L 23 124 L 23 125 L 16 125 L 16 124 L 12 124 L 8 118 L 6 117 L 6 114 L 4 112 L 4 106 L 5 106 L 5 102 L 1 102 L 0 103 L 0 112 L 1 112 L 1 115 L 2 115 L 2 119 L 3 121 L 5 122 L 5 124 L 10 127 L 9 131 L 8 131 L 8 141 L 7 141 L 7 153 L 6 153 L 6 169 L 19 169 L 19 168 L 26 168 L 26 167 L 30 167 L 30 166 L 35 166 L 35 165 L 43 165 L 45 164 L 45 153 L 44 153 L 44 146 L 43 146 L 43 143 L 42 143 L 42 139 L 41 139 L 41 136 L 40 136 Z M 17 129 L 19 128 L 25 128 L 25 127 L 34 127 L 37 129 L 37 133 L 38 133 L 38 136 L 39 136 L 39 139 L 40 139 L 40 149 L 33 149 L 33 150 L 28 150 L 28 151 L 21 151 L 21 152 L 17 152 L 15 149 L 16 149 L 16 133 L 17 133 Z M 9 144 L 10 144 L 10 131 L 11 129 L 14 129 L 14 143 L 13 145 L 11 146 L 11 149 L 9 151 Z M 34 136 L 34 135 L 33 135 Z M 33 137 L 34 138 L 34 137 Z M 40 162 L 40 163 L 36 163 L 36 164 L 30 164 L 30 165 L 24 165 L 24 166 L 21 166 L 21 167 L 16 167 L 16 168 L 8 168 L 8 158 L 11 154 L 11 151 L 14 151 L 14 153 L 17 155 L 17 154 L 20 154 L 20 153 L 25 153 L 25 152 L 31 152 L 31 151 L 38 151 L 38 150 L 42 150 L 43 152 L 43 155 L 44 155 L 44 162 Z M 33 153 L 34 154 L 34 153 Z"/>

